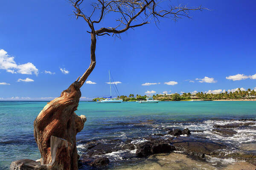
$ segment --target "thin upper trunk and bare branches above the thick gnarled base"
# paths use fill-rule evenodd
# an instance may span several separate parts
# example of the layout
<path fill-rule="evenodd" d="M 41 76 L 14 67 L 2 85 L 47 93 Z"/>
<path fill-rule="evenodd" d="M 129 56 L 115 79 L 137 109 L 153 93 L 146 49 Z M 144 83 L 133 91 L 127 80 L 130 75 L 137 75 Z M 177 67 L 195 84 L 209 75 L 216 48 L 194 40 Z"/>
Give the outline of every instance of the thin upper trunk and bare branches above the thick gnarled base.
<path fill-rule="evenodd" d="M 91 62 L 81 79 L 77 79 L 80 87 L 84 84 L 96 65 L 96 36 L 109 35 L 120 37 L 119 34 L 127 31 L 129 28 L 143 26 L 150 23 L 149 20 L 153 20 L 156 24 L 159 23 L 159 18 L 161 17 L 169 17 L 177 21 L 181 17 L 190 18 L 189 11 L 206 9 L 201 6 L 189 8 L 181 5 L 169 6 L 168 8 L 162 9 L 160 8 L 160 0 L 96 0 L 95 3 L 90 4 L 92 11 L 85 14 L 81 7 L 84 0 L 69 0 L 69 2 L 76 9 L 73 11 L 76 19 L 82 17 L 87 22 L 90 28 L 90 31 L 87 32 L 91 35 Z M 95 25 L 102 22 L 106 15 L 110 13 L 116 16 L 116 26 L 103 27 L 96 30 Z M 93 20 L 95 15 L 98 15 L 97 19 Z"/>

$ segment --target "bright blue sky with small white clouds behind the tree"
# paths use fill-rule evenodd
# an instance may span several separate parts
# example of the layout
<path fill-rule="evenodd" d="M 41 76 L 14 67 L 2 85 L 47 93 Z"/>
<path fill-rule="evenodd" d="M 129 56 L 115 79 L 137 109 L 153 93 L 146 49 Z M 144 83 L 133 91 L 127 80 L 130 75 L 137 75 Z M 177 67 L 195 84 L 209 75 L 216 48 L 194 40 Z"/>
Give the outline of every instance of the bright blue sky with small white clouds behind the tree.
<path fill-rule="evenodd" d="M 176 23 L 164 18 L 158 28 L 151 21 L 121 34 L 122 40 L 99 37 L 96 67 L 87 79 L 96 84 L 83 85 L 82 100 L 109 95 L 108 70 L 122 82 L 121 95 L 256 87 L 256 2 L 172 1 L 178 3 L 212 10 Z M 0 100 L 51 100 L 84 73 L 90 34 L 72 11 L 64 0 L 1 2 Z M 96 27 L 114 24 L 105 19 Z"/>

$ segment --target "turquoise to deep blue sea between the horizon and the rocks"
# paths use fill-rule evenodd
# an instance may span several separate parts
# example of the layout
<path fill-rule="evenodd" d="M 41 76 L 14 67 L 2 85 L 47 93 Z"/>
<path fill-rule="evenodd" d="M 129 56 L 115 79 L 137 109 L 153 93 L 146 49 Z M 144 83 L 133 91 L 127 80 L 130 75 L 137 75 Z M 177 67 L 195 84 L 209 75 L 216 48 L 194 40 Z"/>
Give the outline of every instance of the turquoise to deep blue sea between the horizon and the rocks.
<path fill-rule="evenodd" d="M 8 170 L 14 160 L 40 159 L 33 136 L 33 122 L 46 104 L 47 101 L 0 101 L 0 170 Z M 78 150 L 82 153 L 81 141 L 131 139 L 158 133 L 162 127 L 200 130 L 210 129 L 213 123 L 221 124 L 223 119 L 256 119 L 256 102 L 80 102 L 76 114 L 87 117 L 84 129 L 77 135 Z M 247 136 L 239 134 L 232 139 L 225 139 L 226 142 L 239 144 L 256 141 L 255 130 L 248 132 Z M 215 138 L 222 140 L 218 136 Z"/>

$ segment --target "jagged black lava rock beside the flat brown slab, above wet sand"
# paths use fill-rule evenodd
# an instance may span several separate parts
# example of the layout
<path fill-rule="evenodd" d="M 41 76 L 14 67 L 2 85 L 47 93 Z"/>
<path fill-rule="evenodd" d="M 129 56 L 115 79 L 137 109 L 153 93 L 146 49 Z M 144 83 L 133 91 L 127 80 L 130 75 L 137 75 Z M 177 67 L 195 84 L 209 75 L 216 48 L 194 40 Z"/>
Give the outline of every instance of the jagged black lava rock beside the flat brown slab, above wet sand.
<path fill-rule="evenodd" d="M 156 153 L 169 153 L 175 150 L 167 140 L 154 140 L 140 143 L 136 151 L 138 157 L 145 157 Z"/>

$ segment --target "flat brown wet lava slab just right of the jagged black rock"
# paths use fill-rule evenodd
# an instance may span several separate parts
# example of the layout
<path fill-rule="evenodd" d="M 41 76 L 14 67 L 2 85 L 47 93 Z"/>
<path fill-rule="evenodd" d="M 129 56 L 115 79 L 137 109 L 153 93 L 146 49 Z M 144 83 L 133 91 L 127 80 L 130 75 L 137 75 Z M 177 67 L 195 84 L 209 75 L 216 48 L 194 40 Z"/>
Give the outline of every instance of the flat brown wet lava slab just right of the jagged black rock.
<path fill-rule="evenodd" d="M 212 142 L 209 139 L 196 138 L 193 136 L 177 136 L 176 138 L 169 138 L 176 150 L 183 151 L 189 155 L 204 158 L 204 155 L 214 155 L 216 150 L 224 149 L 221 143 Z"/>

